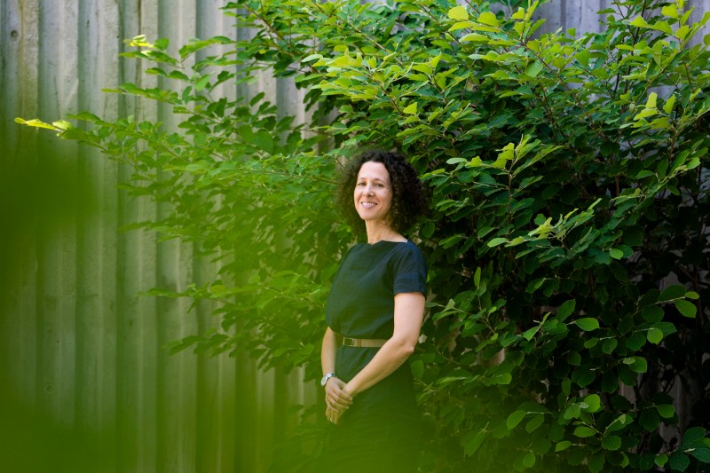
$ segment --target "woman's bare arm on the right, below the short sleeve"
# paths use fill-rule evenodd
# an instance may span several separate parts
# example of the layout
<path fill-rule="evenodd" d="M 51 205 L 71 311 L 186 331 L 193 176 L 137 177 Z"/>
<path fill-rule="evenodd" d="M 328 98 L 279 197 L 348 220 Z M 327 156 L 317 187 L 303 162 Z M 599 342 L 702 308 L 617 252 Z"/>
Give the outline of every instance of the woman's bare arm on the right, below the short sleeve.
<path fill-rule="evenodd" d="M 394 296 L 394 333 L 343 391 L 352 397 L 394 373 L 414 353 L 424 319 L 424 295 L 419 292 Z"/>

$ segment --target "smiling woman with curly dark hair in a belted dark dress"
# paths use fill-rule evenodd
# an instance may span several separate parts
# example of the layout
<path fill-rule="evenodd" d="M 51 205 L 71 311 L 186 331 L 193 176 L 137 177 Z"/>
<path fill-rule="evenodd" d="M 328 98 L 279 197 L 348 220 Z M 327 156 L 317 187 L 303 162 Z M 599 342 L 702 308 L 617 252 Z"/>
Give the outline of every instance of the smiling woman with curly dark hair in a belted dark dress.
<path fill-rule="evenodd" d="M 335 426 L 326 465 L 413 472 L 422 416 L 405 361 L 422 326 L 426 266 L 404 233 L 424 209 L 422 185 L 404 158 L 382 151 L 352 160 L 341 184 L 341 209 L 353 229 L 364 223 L 367 243 L 343 258 L 327 302 L 321 385 Z"/>

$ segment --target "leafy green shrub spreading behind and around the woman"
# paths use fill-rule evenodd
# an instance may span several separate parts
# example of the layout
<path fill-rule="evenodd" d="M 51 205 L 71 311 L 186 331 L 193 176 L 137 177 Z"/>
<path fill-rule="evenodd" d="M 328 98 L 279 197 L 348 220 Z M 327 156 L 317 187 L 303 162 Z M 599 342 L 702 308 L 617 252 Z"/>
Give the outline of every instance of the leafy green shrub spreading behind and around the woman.
<path fill-rule="evenodd" d="M 253 38 L 126 54 L 163 82 L 118 92 L 172 106 L 179 131 L 26 123 L 129 162 L 130 190 L 171 205 L 141 225 L 220 262 L 218 280 L 154 291 L 220 304 L 221 330 L 174 349 L 311 378 L 350 243 L 329 204 L 338 156 L 399 148 L 433 196 L 411 235 L 430 264 L 422 470 L 704 469 L 710 15 L 613 1 L 599 33 L 542 33 L 538 3 L 518 4 L 239 0 L 225 12 Z M 312 121 L 220 95 L 258 71 L 293 77 Z"/>

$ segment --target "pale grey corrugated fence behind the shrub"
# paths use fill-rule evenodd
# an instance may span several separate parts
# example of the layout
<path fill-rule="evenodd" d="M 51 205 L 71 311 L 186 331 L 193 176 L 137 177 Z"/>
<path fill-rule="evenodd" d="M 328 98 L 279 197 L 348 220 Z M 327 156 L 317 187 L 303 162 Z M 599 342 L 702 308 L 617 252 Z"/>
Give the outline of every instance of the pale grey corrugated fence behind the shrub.
<path fill-rule="evenodd" d="M 553 0 L 548 29 L 598 29 L 610 0 Z M 216 268 L 176 242 L 117 232 L 159 206 L 116 189 L 127 170 L 89 149 L 12 122 L 80 110 L 170 123 L 102 88 L 150 83 L 119 60 L 122 39 L 247 34 L 209 0 L 2 0 L 0 3 L 0 468 L 4 471 L 257 472 L 284 420 L 312 404 L 303 374 L 259 372 L 246 357 L 169 356 L 162 344 L 213 323 L 209 307 L 140 297 L 184 288 Z M 687 2 L 693 18 L 710 0 Z M 288 114 L 288 83 L 263 79 Z"/>

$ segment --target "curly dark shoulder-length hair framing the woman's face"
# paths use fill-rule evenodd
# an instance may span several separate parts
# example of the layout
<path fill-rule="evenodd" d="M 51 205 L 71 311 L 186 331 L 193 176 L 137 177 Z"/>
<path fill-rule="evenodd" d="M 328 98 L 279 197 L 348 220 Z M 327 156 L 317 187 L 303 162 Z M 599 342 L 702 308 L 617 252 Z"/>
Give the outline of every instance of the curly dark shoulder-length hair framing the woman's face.
<path fill-rule="evenodd" d="M 397 153 L 369 150 L 359 154 L 345 165 L 340 178 L 340 191 L 337 194 L 337 206 L 343 217 L 351 225 L 353 232 L 365 231 L 365 223 L 353 204 L 352 193 L 358 180 L 359 170 L 366 162 L 382 162 L 390 174 L 392 185 L 390 224 L 396 232 L 406 233 L 424 214 L 427 199 L 416 170 Z"/>

